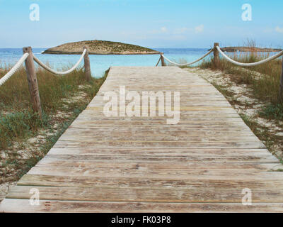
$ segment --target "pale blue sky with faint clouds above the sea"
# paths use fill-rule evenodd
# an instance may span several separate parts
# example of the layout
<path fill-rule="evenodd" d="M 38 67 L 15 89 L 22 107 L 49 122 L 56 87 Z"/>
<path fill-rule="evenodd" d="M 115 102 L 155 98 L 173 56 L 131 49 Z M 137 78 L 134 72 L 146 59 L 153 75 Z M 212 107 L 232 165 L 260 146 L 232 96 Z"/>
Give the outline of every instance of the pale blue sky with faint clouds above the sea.
<path fill-rule="evenodd" d="M 30 4 L 40 21 L 30 21 Z M 243 21 L 243 4 L 252 21 Z M 208 48 L 214 42 L 283 48 L 282 0 L 0 0 L 0 48 L 49 48 L 113 40 L 151 48 Z"/>

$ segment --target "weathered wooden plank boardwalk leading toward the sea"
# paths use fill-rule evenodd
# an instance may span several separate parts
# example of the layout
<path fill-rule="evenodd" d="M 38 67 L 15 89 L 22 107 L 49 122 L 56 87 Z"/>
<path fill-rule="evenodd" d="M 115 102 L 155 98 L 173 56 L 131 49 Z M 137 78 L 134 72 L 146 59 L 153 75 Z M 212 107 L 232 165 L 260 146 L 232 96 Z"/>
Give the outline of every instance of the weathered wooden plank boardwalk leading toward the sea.
<path fill-rule="evenodd" d="M 105 92 L 180 92 L 180 122 L 106 117 Z M 211 84 L 178 67 L 111 67 L 88 108 L 0 204 L 7 212 L 283 211 L 283 169 Z M 40 205 L 30 205 L 30 189 Z M 243 189 L 252 192 L 242 204 Z"/>

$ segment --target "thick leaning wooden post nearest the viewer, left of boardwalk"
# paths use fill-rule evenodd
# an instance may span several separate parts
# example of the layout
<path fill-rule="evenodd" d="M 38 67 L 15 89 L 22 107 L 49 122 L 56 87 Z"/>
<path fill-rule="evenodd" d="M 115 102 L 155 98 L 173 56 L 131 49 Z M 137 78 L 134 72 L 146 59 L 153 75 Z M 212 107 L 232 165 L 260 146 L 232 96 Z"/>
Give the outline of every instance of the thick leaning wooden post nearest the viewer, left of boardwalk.
<path fill-rule="evenodd" d="M 42 117 L 42 109 L 40 104 L 40 92 L 38 90 L 37 77 L 35 74 L 35 64 L 33 62 L 33 50 L 31 47 L 23 48 L 23 53 L 29 53 L 25 60 L 25 71 L 28 77 L 28 89 L 30 91 L 30 101 L 33 105 L 33 111 Z"/>

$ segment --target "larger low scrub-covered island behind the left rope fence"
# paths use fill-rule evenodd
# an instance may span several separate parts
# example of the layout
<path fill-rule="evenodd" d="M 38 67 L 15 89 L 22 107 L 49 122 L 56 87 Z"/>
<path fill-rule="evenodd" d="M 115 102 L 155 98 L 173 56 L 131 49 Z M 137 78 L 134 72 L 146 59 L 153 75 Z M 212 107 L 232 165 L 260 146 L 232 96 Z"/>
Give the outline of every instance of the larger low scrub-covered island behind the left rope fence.
<path fill-rule="evenodd" d="M 90 55 L 157 55 L 160 52 L 144 48 L 139 45 L 111 42 L 105 40 L 88 40 L 74 43 L 65 43 L 50 48 L 42 54 L 53 55 L 81 55 L 83 47 L 88 47 Z"/>

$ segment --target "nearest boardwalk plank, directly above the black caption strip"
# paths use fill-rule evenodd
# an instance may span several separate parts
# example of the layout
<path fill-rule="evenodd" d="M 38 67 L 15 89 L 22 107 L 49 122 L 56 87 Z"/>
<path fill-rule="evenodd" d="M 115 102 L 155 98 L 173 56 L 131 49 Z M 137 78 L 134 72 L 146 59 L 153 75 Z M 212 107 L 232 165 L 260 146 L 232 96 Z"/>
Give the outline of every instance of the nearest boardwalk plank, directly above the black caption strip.
<path fill-rule="evenodd" d="M 275 213 L 283 212 L 283 203 L 257 203 L 243 206 L 239 203 L 141 203 L 141 202 L 98 202 L 98 201 L 56 201 L 40 200 L 39 206 L 31 206 L 29 199 L 5 199 L 0 204 L 0 212 L 52 212 L 52 213 Z"/>

